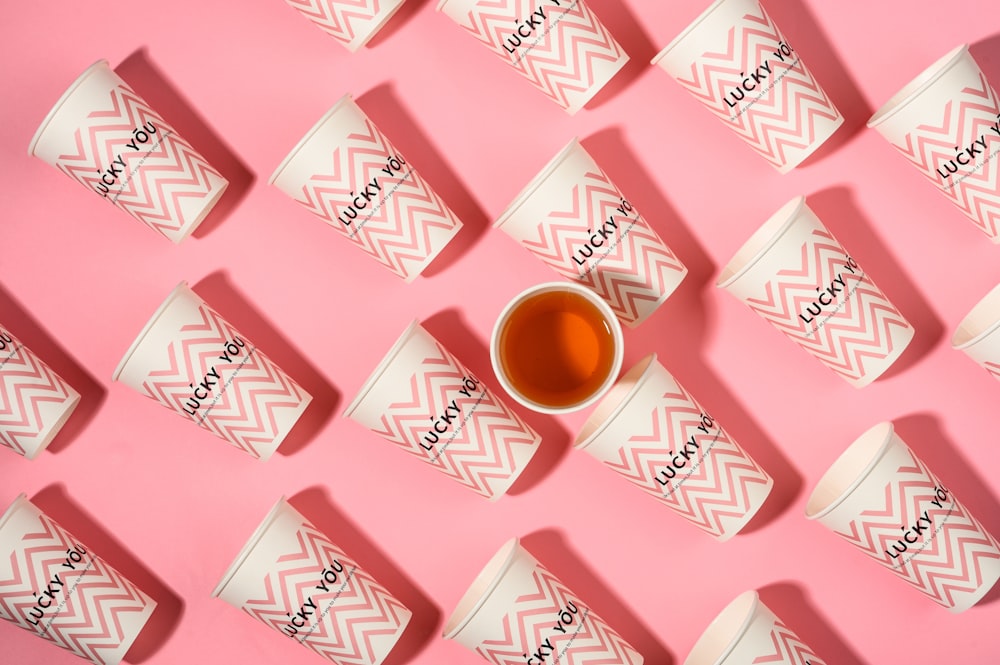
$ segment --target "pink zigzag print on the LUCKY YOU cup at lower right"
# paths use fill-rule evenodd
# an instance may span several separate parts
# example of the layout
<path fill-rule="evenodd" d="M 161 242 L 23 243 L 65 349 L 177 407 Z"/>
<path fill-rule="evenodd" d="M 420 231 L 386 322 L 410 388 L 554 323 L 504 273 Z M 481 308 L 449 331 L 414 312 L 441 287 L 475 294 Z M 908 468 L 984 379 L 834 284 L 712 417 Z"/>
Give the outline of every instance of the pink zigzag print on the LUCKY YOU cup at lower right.
<path fill-rule="evenodd" d="M 935 489 L 941 483 L 912 452 L 907 454 L 909 460 L 885 486 L 884 504 L 836 533 L 937 603 L 955 607 L 958 597 L 983 585 L 983 566 L 997 565 L 1000 545 L 952 496 L 938 499 Z M 940 507 L 932 503 L 935 499 Z M 933 526 L 914 533 L 916 543 L 907 543 L 904 534 L 912 532 L 912 525 L 925 526 L 918 522 L 925 511 Z M 900 544 L 906 548 L 902 553 L 893 547 Z"/>

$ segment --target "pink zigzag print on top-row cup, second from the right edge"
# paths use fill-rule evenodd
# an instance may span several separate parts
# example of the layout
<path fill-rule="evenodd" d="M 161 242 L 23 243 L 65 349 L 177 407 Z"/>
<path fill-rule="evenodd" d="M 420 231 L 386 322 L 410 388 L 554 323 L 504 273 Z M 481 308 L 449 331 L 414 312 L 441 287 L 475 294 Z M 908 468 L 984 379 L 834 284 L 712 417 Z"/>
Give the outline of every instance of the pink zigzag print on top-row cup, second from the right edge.
<path fill-rule="evenodd" d="M 788 42 L 764 8 L 758 9 L 730 29 L 723 50 L 707 51 L 691 64 L 690 77 L 676 79 L 761 157 L 781 168 L 789 152 L 813 144 L 819 123 L 838 122 L 841 115 L 794 51 L 784 62 L 774 55 L 779 43 Z M 753 72 L 759 75 L 758 67 L 765 65 L 772 73 L 759 82 L 750 78 L 755 89 L 745 92 L 743 81 Z M 773 87 L 765 90 L 767 86 Z M 736 108 L 726 103 L 733 90 L 746 95 Z"/>

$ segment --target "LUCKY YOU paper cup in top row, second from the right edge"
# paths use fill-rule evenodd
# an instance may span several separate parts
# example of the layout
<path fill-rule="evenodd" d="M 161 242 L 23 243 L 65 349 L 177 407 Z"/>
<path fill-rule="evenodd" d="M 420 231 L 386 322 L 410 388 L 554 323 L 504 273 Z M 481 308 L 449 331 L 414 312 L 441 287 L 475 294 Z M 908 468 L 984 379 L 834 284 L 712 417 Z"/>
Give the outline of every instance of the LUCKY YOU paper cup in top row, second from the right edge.
<path fill-rule="evenodd" d="M 757 0 L 716 0 L 653 64 L 780 173 L 844 122 Z"/>

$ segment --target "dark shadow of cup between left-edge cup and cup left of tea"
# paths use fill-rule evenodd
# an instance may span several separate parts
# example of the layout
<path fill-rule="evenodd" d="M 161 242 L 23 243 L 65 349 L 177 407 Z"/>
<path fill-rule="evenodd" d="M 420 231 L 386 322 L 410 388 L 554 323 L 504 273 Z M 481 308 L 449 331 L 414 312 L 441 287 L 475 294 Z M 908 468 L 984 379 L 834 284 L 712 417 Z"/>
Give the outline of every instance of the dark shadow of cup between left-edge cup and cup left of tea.
<path fill-rule="evenodd" d="M 339 391 L 232 285 L 224 271 L 205 277 L 193 290 L 312 395 L 312 402 L 282 442 L 278 453 L 290 456 L 305 448 L 337 409 Z"/>

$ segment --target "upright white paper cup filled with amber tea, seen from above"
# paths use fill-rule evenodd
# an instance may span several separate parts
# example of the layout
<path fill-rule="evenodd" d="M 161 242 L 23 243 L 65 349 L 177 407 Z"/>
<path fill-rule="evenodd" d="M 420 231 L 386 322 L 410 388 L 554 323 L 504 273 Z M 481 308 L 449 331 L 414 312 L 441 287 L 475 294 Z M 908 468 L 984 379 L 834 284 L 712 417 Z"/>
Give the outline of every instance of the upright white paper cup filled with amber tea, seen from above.
<path fill-rule="evenodd" d="M 600 399 L 622 366 L 611 307 L 573 282 L 545 282 L 514 297 L 493 327 L 490 360 L 504 389 L 541 413 L 579 411 Z"/>

